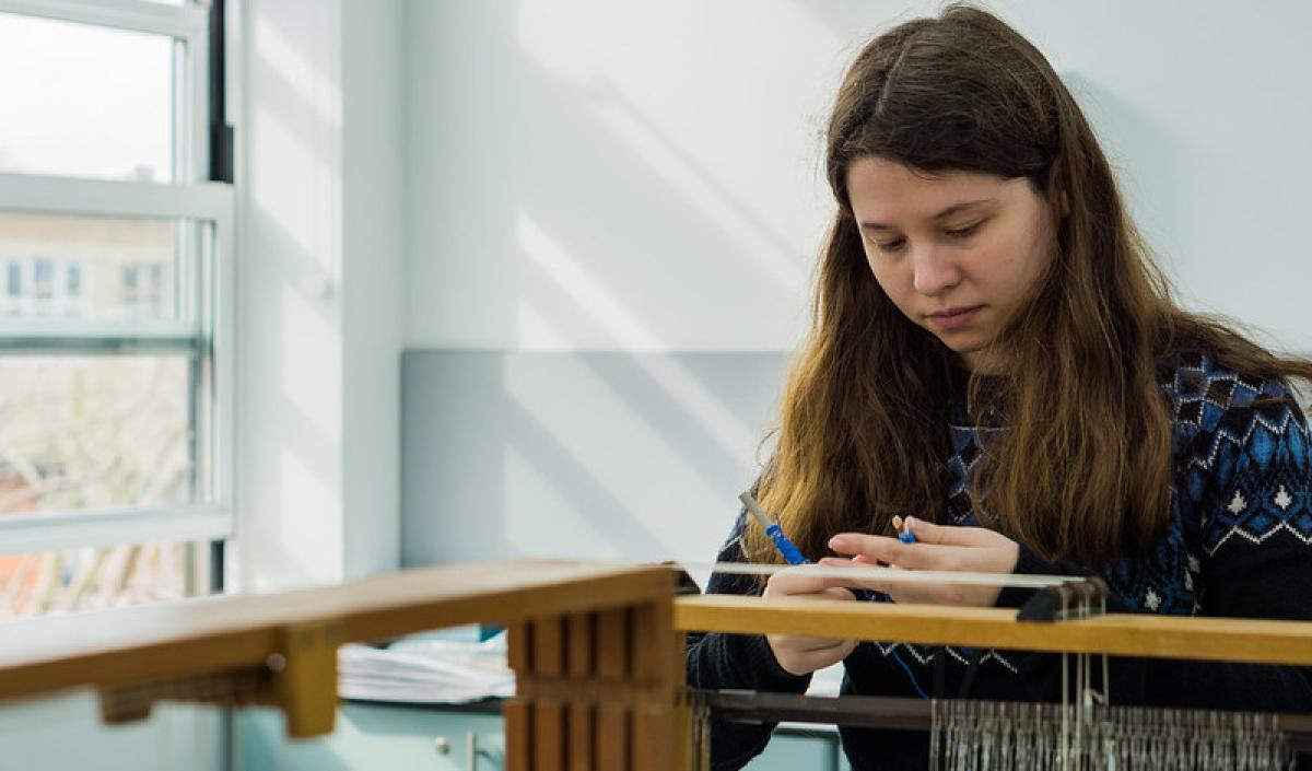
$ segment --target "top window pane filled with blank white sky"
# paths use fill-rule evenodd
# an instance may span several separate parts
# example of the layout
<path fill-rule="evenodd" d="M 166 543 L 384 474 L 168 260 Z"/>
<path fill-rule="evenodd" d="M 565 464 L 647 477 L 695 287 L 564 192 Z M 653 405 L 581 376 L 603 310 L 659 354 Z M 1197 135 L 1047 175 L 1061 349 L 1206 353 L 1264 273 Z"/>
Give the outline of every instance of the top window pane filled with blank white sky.
<path fill-rule="evenodd" d="M 173 181 L 174 45 L 0 13 L 0 172 Z"/>

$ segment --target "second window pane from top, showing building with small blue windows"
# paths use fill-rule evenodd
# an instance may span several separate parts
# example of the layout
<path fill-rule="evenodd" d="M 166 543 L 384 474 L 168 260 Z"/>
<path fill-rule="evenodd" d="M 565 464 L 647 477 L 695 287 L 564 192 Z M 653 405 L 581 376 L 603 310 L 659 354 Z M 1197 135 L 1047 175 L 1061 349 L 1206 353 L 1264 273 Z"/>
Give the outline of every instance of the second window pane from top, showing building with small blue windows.
<path fill-rule="evenodd" d="M 182 319 L 178 275 L 201 227 L 0 211 L 0 316 Z"/>

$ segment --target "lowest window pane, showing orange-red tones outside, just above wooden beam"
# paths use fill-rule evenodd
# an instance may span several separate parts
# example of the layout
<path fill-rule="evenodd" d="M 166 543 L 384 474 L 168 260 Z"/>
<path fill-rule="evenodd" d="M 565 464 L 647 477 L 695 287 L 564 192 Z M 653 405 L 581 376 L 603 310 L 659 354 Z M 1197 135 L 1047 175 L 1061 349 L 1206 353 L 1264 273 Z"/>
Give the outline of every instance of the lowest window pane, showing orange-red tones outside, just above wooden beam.
<path fill-rule="evenodd" d="M 181 599 L 188 552 L 157 543 L 0 556 L 0 619 Z"/>

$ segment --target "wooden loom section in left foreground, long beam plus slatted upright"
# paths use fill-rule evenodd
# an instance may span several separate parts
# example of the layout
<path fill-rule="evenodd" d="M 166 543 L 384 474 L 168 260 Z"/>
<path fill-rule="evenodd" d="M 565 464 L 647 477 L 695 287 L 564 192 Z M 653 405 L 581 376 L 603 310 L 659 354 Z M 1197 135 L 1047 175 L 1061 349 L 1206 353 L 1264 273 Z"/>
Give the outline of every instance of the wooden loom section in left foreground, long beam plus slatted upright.
<path fill-rule="evenodd" d="M 333 728 L 340 644 L 500 623 L 516 671 L 508 771 L 685 771 L 674 587 L 664 566 L 514 560 L 18 620 L 0 635 L 0 700 L 89 686 L 109 721 L 165 699 L 272 704 L 290 736 L 318 736 Z"/>

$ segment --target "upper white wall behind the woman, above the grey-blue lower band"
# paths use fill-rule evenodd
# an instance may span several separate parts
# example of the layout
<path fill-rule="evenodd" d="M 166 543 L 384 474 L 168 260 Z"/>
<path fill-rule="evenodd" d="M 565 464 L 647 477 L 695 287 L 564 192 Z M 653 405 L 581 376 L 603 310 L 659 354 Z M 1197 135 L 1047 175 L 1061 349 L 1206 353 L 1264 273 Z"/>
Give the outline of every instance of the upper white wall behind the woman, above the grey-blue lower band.
<path fill-rule="evenodd" d="M 1088 109 L 1182 295 L 1312 349 L 1312 5 L 991 7 Z M 411 1 L 407 346 L 791 349 L 841 68 L 935 8 Z"/>

